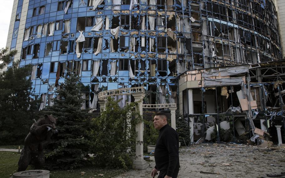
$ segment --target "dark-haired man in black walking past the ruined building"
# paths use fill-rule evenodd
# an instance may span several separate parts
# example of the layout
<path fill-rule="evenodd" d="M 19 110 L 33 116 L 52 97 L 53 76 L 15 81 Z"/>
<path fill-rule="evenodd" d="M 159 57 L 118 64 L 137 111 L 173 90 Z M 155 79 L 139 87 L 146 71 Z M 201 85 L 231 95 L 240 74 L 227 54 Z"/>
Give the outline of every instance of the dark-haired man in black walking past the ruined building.
<path fill-rule="evenodd" d="M 179 139 L 177 132 L 167 123 L 165 113 L 158 112 L 153 118 L 153 124 L 159 130 L 159 136 L 154 150 L 155 166 L 151 176 L 158 178 L 177 178 L 179 171 Z"/>

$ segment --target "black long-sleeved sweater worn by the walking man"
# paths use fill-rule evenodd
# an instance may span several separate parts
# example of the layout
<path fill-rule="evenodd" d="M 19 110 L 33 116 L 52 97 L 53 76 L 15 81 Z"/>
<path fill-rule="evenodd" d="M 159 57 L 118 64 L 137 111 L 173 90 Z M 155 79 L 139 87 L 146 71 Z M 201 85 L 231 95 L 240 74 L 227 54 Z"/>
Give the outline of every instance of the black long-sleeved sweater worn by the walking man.
<path fill-rule="evenodd" d="M 166 124 L 159 130 L 155 150 L 155 168 L 167 170 L 166 175 L 172 177 L 175 168 L 179 168 L 179 139 L 177 132 Z"/>

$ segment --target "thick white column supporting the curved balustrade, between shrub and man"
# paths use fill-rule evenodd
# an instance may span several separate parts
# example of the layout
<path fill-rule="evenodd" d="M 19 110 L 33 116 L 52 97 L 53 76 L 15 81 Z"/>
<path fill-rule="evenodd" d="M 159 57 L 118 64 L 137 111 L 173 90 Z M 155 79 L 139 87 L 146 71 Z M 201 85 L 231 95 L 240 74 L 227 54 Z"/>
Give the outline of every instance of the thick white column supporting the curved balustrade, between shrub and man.
<path fill-rule="evenodd" d="M 135 102 L 138 103 L 136 112 L 143 116 L 143 98 L 145 93 L 133 93 L 132 96 L 135 98 Z M 137 116 L 136 116 L 137 117 Z M 141 144 L 136 145 L 136 159 L 133 162 L 133 169 L 146 169 L 148 163 L 143 159 L 143 122 L 137 123 L 136 125 L 137 138 L 136 141 Z"/>

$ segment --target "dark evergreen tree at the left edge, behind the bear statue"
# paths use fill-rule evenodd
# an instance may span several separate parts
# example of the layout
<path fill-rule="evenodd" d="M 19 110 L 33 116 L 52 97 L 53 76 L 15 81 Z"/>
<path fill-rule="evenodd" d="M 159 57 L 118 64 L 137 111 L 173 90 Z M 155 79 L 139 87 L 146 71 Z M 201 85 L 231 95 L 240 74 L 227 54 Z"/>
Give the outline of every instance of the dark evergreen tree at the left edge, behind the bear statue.
<path fill-rule="evenodd" d="M 33 123 L 31 66 L 18 67 L 19 61 L 13 62 L 15 54 L 17 50 L 0 50 L 0 144 L 23 144 Z"/>

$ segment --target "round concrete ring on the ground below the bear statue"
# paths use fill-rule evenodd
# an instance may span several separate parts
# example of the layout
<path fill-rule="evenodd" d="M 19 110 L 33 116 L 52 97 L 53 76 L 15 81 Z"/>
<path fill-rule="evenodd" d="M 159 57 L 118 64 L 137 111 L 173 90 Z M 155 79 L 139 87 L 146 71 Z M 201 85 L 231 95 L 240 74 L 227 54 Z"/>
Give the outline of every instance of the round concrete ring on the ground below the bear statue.
<path fill-rule="evenodd" d="M 49 178 L 49 170 L 25 170 L 13 174 L 13 178 Z"/>

